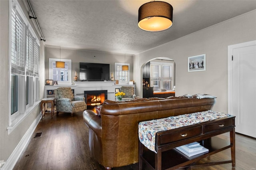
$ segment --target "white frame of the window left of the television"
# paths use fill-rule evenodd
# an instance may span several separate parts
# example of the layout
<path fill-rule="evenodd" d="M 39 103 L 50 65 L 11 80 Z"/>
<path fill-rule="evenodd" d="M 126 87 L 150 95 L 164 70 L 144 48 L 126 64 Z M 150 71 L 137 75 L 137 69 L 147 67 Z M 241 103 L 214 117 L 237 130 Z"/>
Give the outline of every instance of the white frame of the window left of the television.
<path fill-rule="evenodd" d="M 49 58 L 49 79 L 53 80 L 53 71 L 52 71 L 52 63 L 60 61 L 60 59 L 57 58 Z M 65 83 L 72 83 L 72 60 L 71 59 L 61 59 L 61 61 L 64 61 L 65 63 L 68 63 L 68 81 L 58 81 L 58 85 Z"/>

